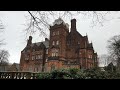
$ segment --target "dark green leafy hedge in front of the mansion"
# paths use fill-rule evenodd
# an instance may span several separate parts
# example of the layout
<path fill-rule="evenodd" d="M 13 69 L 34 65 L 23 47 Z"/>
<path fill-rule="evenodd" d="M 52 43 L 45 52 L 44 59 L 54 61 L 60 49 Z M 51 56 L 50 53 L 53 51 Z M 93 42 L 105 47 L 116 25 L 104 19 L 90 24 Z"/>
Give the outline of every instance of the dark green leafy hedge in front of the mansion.
<path fill-rule="evenodd" d="M 39 73 L 38 79 L 120 79 L 120 73 L 100 69 L 61 69 L 50 73 Z"/>

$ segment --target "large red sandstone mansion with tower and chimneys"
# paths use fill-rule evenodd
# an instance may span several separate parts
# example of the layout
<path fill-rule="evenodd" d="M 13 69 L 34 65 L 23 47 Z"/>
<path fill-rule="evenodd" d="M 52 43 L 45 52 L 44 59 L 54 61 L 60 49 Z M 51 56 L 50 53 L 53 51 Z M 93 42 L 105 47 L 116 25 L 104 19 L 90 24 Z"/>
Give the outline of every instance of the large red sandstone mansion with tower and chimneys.
<path fill-rule="evenodd" d="M 88 36 L 82 36 L 76 29 L 76 19 L 71 28 L 61 18 L 50 26 L 50 37 L 43 42 L 32 43 L 29 36 L 26 47 L 21 51 L 21 71 L 51 71 L 61 68 L 97 67 L 97 53 Z"/>

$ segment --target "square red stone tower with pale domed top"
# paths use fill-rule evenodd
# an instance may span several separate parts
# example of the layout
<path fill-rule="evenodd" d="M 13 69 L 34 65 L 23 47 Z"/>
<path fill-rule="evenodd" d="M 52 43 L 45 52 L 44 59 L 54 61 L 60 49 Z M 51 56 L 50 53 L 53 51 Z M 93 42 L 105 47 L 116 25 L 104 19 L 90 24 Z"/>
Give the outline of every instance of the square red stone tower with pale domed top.
<path fill-rule="evenodd" d="M 61 18 L 50 27 L 49 61 L 63 61 L 66 57 L 66 37 L 69 34 L 68 24 Z M 59 66 L 59 65 L 57 65 Z"/>

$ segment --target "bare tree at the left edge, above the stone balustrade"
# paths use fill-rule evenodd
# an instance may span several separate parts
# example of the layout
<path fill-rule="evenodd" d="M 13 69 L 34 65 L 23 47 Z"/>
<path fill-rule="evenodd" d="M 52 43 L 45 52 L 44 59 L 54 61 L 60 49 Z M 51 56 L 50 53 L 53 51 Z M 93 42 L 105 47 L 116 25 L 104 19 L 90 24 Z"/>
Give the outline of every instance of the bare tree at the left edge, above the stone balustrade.
<path fill-rule="evenodd" d="M 8 64 L 9 52 L 6 50 L 0 50 L 0 65 Z"/>

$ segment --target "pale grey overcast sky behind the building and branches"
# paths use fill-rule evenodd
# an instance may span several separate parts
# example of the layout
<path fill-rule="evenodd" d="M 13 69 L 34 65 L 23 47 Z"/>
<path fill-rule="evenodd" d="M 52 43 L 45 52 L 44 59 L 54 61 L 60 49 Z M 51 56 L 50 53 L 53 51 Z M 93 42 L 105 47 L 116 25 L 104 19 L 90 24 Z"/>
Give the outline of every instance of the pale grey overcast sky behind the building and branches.
<path fill-rule="evenodd" d="M 6 45 L 2 46 L 1 49 L 6 49 L 10 53 L 9 62 L 19 63 L 21 50 L 26 46 L 25 33 L 23 30 L 26 23 L 25 16 L 28 13 L 26 11 L 0 11 L 0 19 L 5 25 L 5 31 L 2 38 L 5 39 Z M 120 13 L 113 13 L 112 17 L 120 16 Z M 108 17 L 111 18 L 108 15 Z M 75 17 L 73 17 L 75 18 Z M 83 17 L 76 17 L 77 19 L 77 30 L 81 35 L 88 35 L 89 41 L 93 42 L 93 47 L 98 55 L 107 54 L 107 40 L 120 33 L 120 19 L 113 19 L 106 21 L 104 26 L 91 27 L 89 19 L 84 19 Z M 65 22 L 69 23 L 70 20 Z M 33 36 L 33 42 L 40 42 L 43 38 L 38 37 L 38 35 Z"/>

